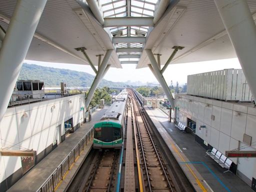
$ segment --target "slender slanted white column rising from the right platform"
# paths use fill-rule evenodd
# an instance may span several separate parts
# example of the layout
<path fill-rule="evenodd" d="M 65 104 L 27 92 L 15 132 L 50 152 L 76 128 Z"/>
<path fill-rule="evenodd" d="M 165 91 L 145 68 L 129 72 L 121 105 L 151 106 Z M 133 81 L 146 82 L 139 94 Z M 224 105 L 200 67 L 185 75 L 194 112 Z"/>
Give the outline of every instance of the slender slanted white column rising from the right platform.
<path fill-rule="evenodd" d="M 153 68 L 153 71 L 154 71 L 153 74 L 155 75 L 156 79 L 158 80 L 158 82 L 162 86 L 163 91 L 166 94 L 166 96 L 167 96 L 167 98 L 168 98 L 168 100 L 170 102 L 171 108 L 174 108 L 174 98 L 172 97 L 170 89 L 169 89 L 167 83 L 165 82 L 164 77 L 162 76 L 162 73 L 160 71 L 158 63 L 156 62 L 151 49 L 145 49 L 145 51 L 146 51 L 147 56 L 148 56 L 148 58 L 149 58 L 149 60 L 150 60 L 150 62 L 152 64 L 152 68 Z"/>

